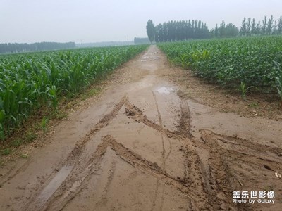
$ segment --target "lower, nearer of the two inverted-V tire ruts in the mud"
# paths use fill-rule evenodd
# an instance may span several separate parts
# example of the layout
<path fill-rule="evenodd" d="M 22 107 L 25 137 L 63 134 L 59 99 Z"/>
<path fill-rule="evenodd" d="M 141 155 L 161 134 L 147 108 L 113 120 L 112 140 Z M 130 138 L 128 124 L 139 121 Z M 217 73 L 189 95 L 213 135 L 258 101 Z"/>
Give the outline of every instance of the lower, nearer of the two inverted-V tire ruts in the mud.
<path fill-rule="evenodd" d="M 181 192 L 185 194 L 188 198 L 192 198 L 190 195 L 190 190 L 188 190 L 187 186 L 183 183 L 183 180 L 171 177 L 171 175 L 164 173 L 161 170 L 161 167 L 157 165 L 155 162 L 150 162 L 149 160 L 143 159 L 140 155 L 137 155 L 133 151 L 131 151 L 128 148 L 125 148 L 123 144 L 118 143 L 112 136 L 107 135 L 102 137 L 102 143 L 99 144 L 97 147 L 97 150 L 94 152 L 93 157 L 90 159 L 89 162 L 92 166 L 90 167 L 90 172 L 93 173 L 94 167 L 96 167 L 97 171 L 100 168 L 100 163 L 102 162 L 102 159 L 104 158 L 104 154 L 106 153 L 107 148 L 110 147 L 113 151 L 115 151 L 116 155 L 118 155 L 121 160 L 127 162 L 128 164 L 132 165 L 133 167 L 137 168 L 141 172 L 144 172 L 146 174 L 149 174 L 159 181 L 164 181 L 166 184 L 170 184 L 173 186 L 176 186 Z M 77 193 L 84 187 L 82 184 L 87 184 L 87 180 L 89 179 L 90 175 L 92 173 L 88 172 L 86 177 L 83 177 L 83 181 L 80 182 L 80 186 L 76 188 L 76 190 L 70 191 L 70 186 L 62 186 L 59 188 L 58 191 L 56 191 L 57 198 L 53 198 L 53 200 L 50 201 L 50 205 L 46 208 L 49 210 L 61 210 L 69 200 L 75 197 Z M 71 172 L 71 174 L 76 174 L 75 178 L 68 177 L 66 181 L 64 181 L 64 184 L 77 184 L 78 178 L 82 177 L 82 175 L 78 175 L 78 171 Z M 80 173 L 82 174 L 82 173 Z M 68 193 L 68 196 L 63 193 Z M 193 200 L 193 199 L 191 199 Z"/>

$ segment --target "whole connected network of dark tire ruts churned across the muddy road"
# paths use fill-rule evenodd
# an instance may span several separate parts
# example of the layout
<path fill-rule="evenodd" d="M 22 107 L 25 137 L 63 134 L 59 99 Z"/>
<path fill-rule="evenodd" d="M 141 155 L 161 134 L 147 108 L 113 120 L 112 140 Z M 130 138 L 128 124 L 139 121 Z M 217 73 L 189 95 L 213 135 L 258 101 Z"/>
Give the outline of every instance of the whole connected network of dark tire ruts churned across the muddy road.
<path fill-rule="evenodd" d="M 91 175 L 101 169 L 101 162 L 108 148 L 111 148 L 124 162 L 157 178 L 157 184 L 161 180 L 166 185 L 176 187 L 188 198 L 188 210 L 249 210 L 253 208 L 247 204 L 233 204 L 232 192 L 241 190 L 243 186 L 256 190 L 256 182 L 265 179 L 263 175 L 257 174 L 257 168 L 262 171 L 281 172 L 282 161 L 278 156 L 282 153 L 281 148 L 266 147 L 239 137 L 215 134 L 204 129 L 200 130 L 202 141 L 194 139 L 190 132 L 192 118 L 188 103 L 182 97 L 181 92 L 178 92 L 178 96 L 181 117 L 177 131 L 164 129 L 161 125 L 161 117 L 159 117 L 160 124 L 155 124 L 142 113 L 140 108 L 130 103 L 128 96 L 123 96 L 113 110 L 77 143 L 65 162 L 61 164 L 61 170 L 66 167 L 71 169 L 61 184 L 42 200 L 42 193 L 48 187 L 48 184 L 45 183 L 47 186 L 42 187 L 34 194 L 24 210 L 62 210 L 83 188 L 86 188 Z M 163 166 L 142 158 L 123 144 L 118 143 L 110 135 L 103 136 L 92 156 L 82 160 L 81 156 L 85 151 L 86 143 L 106 127 L 111 120 L 114 120 L 123 106 L 125 106 L 125 115 L 135 122 L 151 127 L 166 136 L 168 141 L 171 139 L 179 141 L 180 151 L 185 157 L 183 177 L 171 176 Z M 202 152 L 207 155 L 207 159 L 203 157 Z M 254 179 L 252 172 L 245 171 L 245 166 L 240 165 L 247 165 L 250 170 L 256 173 L 257 179 Z M 56 174 L 50 176 L 49 182 L 54 177 Z M 269 183 L 271 183 L 270 180 Z M 274 184 L 278 186 L 278 181 Z"/>

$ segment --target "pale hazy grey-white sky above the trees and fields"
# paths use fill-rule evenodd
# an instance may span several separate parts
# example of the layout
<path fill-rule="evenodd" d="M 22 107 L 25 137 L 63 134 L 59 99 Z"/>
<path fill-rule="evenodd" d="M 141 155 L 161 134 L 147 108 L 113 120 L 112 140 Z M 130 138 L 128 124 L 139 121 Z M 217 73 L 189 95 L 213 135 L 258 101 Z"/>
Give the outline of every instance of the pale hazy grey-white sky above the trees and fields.
<path fill-rule="evenodd" d="M 0 0 L 0 43 L 127 41 L 147 37 L 147 20 L 225 20 L 282 15 L 281 0 Z"/>

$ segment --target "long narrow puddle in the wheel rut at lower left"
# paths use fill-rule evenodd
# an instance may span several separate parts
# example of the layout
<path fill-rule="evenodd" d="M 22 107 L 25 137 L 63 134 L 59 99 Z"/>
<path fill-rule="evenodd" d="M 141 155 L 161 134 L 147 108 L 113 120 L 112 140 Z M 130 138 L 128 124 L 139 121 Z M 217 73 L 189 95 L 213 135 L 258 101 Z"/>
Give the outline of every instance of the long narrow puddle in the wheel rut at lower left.
<path fill-rule="evenodd" d="M 68 177 L 68 174 L 73 170 L 73 165 L 64 166 L 59 170 L 56 176 L 50 181 L 50 183 L 43 189 L 37 198 L 37 207 L 42 207 L 47 200 L 55 193 L 55 191 L 61 186 L 63 181 Z"/>

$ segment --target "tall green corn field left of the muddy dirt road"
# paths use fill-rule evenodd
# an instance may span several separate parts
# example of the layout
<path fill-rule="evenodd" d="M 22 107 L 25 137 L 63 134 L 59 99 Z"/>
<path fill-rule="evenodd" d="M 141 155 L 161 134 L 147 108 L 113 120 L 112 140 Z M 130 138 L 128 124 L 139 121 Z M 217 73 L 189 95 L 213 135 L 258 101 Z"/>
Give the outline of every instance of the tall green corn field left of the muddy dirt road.
<path fill-rule="evenodd" d="M 73 96 L 141 53 L 147 46 L 121 46 L 0 56 L 0 140 L 30 114 Z"/>

